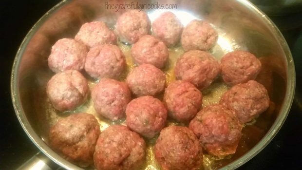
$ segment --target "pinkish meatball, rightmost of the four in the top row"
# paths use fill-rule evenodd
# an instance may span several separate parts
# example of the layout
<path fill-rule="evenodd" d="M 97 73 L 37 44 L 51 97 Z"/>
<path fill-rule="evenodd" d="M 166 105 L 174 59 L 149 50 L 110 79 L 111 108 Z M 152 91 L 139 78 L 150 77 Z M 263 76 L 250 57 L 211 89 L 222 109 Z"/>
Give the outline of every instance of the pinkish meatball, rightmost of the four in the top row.
<path fill-rule="evenodd" d="M 217 39 L 217 32 L 208 22 L 192 20 L 181 35 L 181 44 L 185 51 L 206 51 L 214 46 Z"/>

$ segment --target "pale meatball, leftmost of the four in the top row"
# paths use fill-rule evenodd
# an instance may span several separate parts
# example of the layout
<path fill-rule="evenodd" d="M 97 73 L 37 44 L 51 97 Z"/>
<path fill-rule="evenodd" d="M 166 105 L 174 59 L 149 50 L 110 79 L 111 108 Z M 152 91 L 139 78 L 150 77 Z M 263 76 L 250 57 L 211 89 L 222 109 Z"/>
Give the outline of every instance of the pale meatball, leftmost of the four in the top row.
<path fill-rule="evenodd" d="M 116 44 L 116 36 L 102 21 L 84 23 L 76 34 L 76 40 L 92 48 L 102 44 Z"/>

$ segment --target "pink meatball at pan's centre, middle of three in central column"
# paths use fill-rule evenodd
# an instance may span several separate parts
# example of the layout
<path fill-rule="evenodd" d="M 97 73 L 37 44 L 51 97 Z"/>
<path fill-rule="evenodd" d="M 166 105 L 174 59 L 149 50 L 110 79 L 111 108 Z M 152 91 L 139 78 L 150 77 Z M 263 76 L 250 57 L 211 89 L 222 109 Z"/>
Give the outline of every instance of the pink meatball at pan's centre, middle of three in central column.
<path fill-rule="evenodd" d="M 166 76 L 155 66 L 143 64 L 134 68 L 126 81 L 133 94 L 155 95 L 165 89 Z"/>

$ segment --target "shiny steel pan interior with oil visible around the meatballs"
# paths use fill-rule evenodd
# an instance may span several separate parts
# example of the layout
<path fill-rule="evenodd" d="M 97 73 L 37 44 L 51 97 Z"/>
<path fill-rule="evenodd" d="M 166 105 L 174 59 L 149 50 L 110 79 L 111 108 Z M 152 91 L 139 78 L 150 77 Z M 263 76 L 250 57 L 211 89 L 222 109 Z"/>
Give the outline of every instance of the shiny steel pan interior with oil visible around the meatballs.
<path fill-rule="evenodd" d="M 126 1 L 112 0 L 113 4 Z M 134 2 L 127 1 L 128 3 Z M 205 170 L 235 169 L 261 151 L 282 126 L 290 109 L 295 88 L 295 72 L 291 54 L 286 42 L 276 26 L 257 8 L 245 0 L 158 0 L 148 3 L 176 4 L 172 11 L 184 25 L 192 19 L 206 20 L 217 30 L 219 38 L 209 51 L 220 60 L 224 54 L 234 50 L 245 50 L 257 56 L 262 63 L 262 71 L 256 80 L 268 90 L 271 99 L 269 109 L 256 121 L 243 128 L 243 136 L 234 155 L 225 159 L 204 156 Z M 61 38 L 74 38 L 80 26 L 94 20 L 104 21 L 114 29 L 116 19 L 126 10 L 106 9 L 102 0 L 62 1 L 45 14 L 26 36 L 12 72 L 12 98 L 19 121 L 31 140 L 63 168 L 79 169 L 52 151 L 48 143 L 48 132 L 57 119 L 72 113 L 94 114 L 103 131 L 110 124 L 124 124 L 124 121 L 111 122 L 97 115 L 91 98 L 72 112 L 56 111 L 46 95 L 46 84 L 54 75 L 47 65 L 52 45 Z M 135 1 L 136 3 L 136 1 Z M 139 0 L 138 3 L 147 3 Z M 146 10 L 151 20 L 167 10 Z M 131 58 L 131 46 L 118 43 L 127 60 L 127 71 L 120 77 L 124 80 L 135 66 Z M 184 51 L 180 45 L 169 50 L 170 59 L 164 72 L 167 84 L 175 80 L 173 68 Z M 88 75 L 85 75 L 88 77 Z M 89 80 L 90 88 L 97 83 Z M 203 107 L 219 102 L 220 96 L 228 90 L 222 78 L 218 77 L 210 87 L 202 91 Z M 158 98 L 162 98 L 159 95 Z M 177 124 L 168 120 L 168 125 Z M 147 141 L 147 162 L 144 170 L 159 170 L 153 156 L 156 138 Z M 88 168 L 88 169 L 93 169 Z"/>

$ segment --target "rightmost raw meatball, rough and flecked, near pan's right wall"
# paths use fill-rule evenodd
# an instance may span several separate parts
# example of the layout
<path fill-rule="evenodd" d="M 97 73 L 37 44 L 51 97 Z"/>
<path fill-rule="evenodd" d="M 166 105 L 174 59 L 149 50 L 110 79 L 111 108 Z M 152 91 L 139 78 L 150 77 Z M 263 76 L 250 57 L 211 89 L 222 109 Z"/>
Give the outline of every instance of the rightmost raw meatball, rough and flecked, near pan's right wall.
<path fill-rule="evenodd" d="M 254 80 L 237 84 L 222 95 L 220 104 L 235 111 L 242 123 L 251 121 L 269 107 L 265 87 Z"/>

